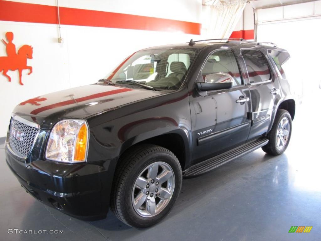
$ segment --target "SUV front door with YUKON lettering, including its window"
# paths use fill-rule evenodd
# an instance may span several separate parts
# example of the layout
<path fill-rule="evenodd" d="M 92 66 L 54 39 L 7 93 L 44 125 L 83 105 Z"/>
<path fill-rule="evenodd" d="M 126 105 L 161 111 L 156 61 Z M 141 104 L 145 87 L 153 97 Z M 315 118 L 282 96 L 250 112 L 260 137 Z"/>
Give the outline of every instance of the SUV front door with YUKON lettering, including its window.
<path fill-rule="evenodd" d="M 204 81 L 206 75 L 213 73 L 231 75 L 233 87 L 207 93 L 195 89 L 195 94 L 190 95 L 193 164 L 244 144 L 250 131 L 249 90 L 231 49 L 213 51 L 204 62 L 197 81 Z"/>

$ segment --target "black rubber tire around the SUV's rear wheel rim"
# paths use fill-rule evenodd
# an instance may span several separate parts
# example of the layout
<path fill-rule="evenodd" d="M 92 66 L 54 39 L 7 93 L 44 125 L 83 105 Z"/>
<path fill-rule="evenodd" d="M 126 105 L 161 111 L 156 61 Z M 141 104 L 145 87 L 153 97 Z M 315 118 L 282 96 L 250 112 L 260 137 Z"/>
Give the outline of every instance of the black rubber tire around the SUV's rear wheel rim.
<path fill-rule="evenodd" d="M 277 145 L 278 126 L 280 124 L 280 121 L 284 117 L 287 118 L 288 121 L 289 121 L 289 127 L 290 127 L 289 132 L 290 133 L 289 133 L 289 136 L 287 138 L 285 146 L 282 147 L 282 148 L 279 148 L 278 145 Z M 290 113 L 288 111 L 286 111 L 286 110 L 279 109 L 276 112 L 272 129 L 267 134 L 267 138 L 269 139 L 269 142 L 268 142 L 268 144 L 266 144 L 265 146 L 262 147 L 263 151 L 265 151 L 267 154 L 270 154 L 270 155 L 273 155 L 273 156 L 281 155 L 286 150 L 286 148 L 288 147 L 288 145 L 290 143 L 291 132 L 292 132 L 292 118 L 291 118 Z"/>

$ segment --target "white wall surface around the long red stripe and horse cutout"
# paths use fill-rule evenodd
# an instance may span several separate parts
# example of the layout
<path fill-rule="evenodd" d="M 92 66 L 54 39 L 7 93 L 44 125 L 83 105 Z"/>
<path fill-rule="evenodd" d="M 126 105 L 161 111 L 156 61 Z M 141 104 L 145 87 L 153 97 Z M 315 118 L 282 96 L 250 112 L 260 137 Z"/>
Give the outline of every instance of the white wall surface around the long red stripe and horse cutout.
<path fill-rule="evenodd" d="M 24 3 L 56 5 L 56 0 L 25 0 Z M 127 13 L 188 22 L 200 22 L 201 0 L 59 0 L 63 7 Z M 199 35 L 129 29 L 62 25 L 65 43 L 58 43 L 55 24 L 0 21 L 0 39 L 7 31 L 14 33 L 16 50 L 24 44 L 33 47 L 28 65 L 33 73 L 9 71 L 12 82 L 0 74 L 0 137 L 6 135 L 11 112 L 24 100 L 49 92 L 92 84 L 105 77 L 119 62 L 134 51 L 163 44 L 188 42 Z M 0 43 L 0 56 L 5 46 Z"/>

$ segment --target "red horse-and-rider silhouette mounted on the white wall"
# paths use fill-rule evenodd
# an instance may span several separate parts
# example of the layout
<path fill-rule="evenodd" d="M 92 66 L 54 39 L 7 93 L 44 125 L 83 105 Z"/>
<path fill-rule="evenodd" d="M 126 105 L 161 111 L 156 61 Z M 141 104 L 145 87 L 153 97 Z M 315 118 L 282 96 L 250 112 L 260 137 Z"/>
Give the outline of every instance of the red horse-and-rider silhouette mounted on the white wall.
<path fill-rule="evenodd" d="M 13 32 L 7 32 L 5 34 L 8 42 L 2 39 L 2 42 L 5 45 L 5 50 L 7 56 L 0 57 L 0 72 L 6 76 L 11 82 L 11 77 L 7 75 L 8 70 L 18 70 L 19 71 L 19 83 L 22 84 L 21 76 L 23 69 L 29 69 L 28 75 L 32 73 L 32 67 L 27 66 L 27 58 L 32 58 L 32 47 L 30 45 L 23 45 L 19 50 L 18 54 L 16 53 L 16 46 L 13 44 Z"/>

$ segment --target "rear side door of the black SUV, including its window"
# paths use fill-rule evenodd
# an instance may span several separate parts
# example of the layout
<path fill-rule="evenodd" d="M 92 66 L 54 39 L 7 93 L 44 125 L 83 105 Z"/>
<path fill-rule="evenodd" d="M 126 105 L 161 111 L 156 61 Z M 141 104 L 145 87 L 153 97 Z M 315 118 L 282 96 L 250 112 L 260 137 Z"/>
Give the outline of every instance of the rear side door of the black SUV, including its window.
<path fill-rule="evenodd" d="M 248 115 L 252 120 L 248 137 L 251 140 L 268 131 L 273 109 L 281 99 L 281 90 L 266 49 L 241 49 L 240 52 L 252 101 Z"/>

